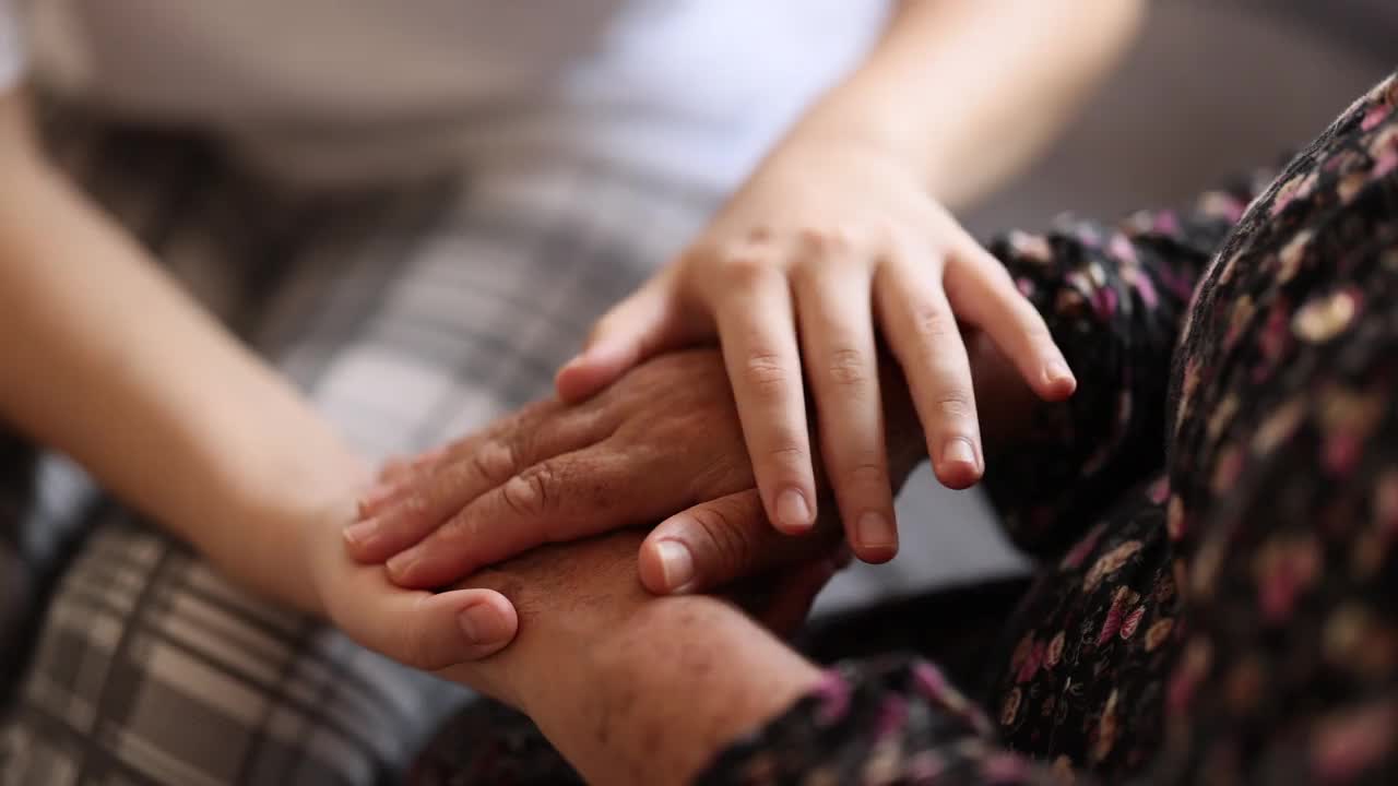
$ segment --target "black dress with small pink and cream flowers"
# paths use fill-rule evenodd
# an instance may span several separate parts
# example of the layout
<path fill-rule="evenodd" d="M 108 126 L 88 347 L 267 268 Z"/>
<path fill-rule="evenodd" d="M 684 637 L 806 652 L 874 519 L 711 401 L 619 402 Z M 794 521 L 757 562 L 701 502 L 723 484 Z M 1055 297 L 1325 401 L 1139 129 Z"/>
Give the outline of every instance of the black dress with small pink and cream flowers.
<path fill-rule="evenodd" d="M 1395 103 L 1188 210 L 997 241 L 1079 392 L 987 462 L 1044 569 L 984 688 L 846 660 L 700 782 L 1398 783 Z"/>

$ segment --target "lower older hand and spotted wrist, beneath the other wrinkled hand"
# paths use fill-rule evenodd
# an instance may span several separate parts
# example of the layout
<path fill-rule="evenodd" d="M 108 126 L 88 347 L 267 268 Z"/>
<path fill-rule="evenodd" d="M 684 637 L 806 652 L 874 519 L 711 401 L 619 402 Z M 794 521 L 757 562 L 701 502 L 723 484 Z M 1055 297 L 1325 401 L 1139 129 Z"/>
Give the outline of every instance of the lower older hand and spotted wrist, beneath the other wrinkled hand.
<path fill-rule="evenodd" d="M 642 537 L 540 548 L 456 585 L 503 593 L 520 629 L 442 676 L 521 708 L 593 783 L 684 783 L 819 680 L 731 601 L 650 596 Z"/>

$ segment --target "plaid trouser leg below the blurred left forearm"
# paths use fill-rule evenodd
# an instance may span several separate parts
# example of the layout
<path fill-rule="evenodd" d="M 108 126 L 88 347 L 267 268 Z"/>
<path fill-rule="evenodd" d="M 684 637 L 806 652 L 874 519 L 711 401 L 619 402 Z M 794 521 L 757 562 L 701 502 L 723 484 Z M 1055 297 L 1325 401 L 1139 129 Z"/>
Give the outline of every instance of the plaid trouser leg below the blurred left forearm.
<path fill-rule="evenodd" d="M 442 688 L 103 516 L 0 736 L 6 783 L 373 783 Z"/>

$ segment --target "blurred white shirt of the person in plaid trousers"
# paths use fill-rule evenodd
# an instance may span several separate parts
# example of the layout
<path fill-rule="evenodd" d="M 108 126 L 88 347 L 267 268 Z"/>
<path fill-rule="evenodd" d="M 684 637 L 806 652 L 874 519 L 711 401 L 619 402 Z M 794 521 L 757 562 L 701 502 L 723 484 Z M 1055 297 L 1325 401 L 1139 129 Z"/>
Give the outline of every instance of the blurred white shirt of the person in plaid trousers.
<path fill-rule="evenodd" d="M 0 0 L 0 8 L 17 0 Z M 25 3 L 25 0 L 20 0 Z M 345 178 L 562 148 L 731 187 L 889 0 L 32 0 L 34 76 Z M 0 21 L 0 78 L 18 43 Z"/>

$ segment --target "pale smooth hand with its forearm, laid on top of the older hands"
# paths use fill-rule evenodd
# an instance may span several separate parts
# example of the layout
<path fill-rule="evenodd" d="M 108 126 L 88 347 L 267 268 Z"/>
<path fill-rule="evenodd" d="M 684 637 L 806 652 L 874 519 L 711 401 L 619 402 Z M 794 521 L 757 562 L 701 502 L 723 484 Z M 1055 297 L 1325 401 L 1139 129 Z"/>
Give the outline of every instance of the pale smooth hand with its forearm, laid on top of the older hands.
<path fill-rule="evenodd" d="M 812 526 L 818 448 L 850 547 L 892 558 L 877 334 L 952 488 L 986 469 L 958 322 L 983 329 L 1040 397 L 1072 393 L 1043 320 L 948 206 L 1053 138 L 1139 11 L 1135 0 L 899 4 L 863 67 L 688 250 L 597 323 L 559 371 L 559 396 L 586 399 L 647 357 L 717 338 L 768 517 L 786 533 Z M 812 420 L 829 424 L 814 442 Z"/>

